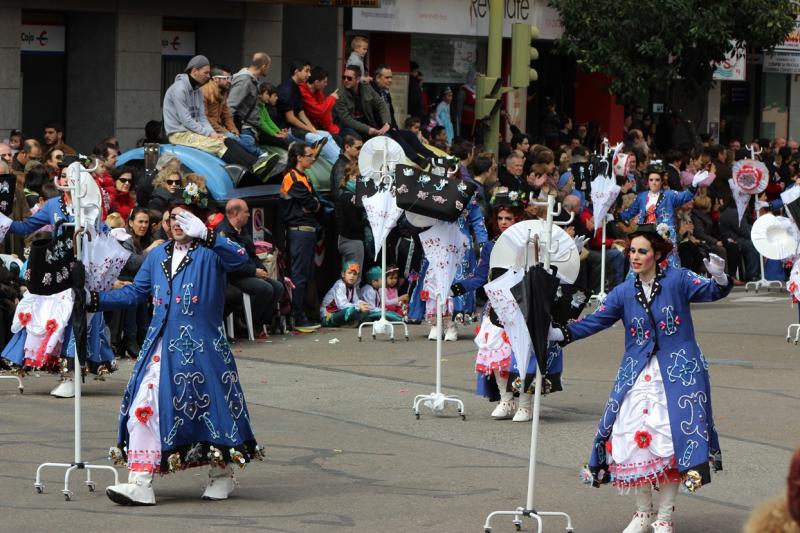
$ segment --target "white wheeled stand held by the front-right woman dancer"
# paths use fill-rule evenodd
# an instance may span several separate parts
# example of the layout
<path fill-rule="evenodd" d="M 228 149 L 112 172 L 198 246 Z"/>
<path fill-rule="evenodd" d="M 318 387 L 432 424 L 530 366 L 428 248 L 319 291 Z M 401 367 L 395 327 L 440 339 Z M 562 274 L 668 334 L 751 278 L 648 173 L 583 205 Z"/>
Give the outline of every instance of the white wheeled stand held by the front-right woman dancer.
<path fill-rule="evenodd" d="M 555 199 L 548 195 L 547 202 L 533 202 L 535 205 L 547 206 L 547 219 L 545 223 L 544 238 L 534 239 L 534 243 L 543 246 L 544 253 L 544 267 L 545 270 L 550 269 L 550 235 L 553 230 L 553 216 L 561 213 L 561 205 L 558 206 L 558 211 L 554 210 Z M 570 218 L 571 221 L 571 218 Z M 565 222 L 568 224 L 570 221 Z M 538 235 L 537 235 L 538 237 Z M 538 256 L 539 246 L 534 246 L 534 254 Z M 538 263 L 538 257 L 534 257 L 534 261 Z M 527 268 L 527 265 L 525 265 Z M 522 517 L 533 518 L 536 520 L 536 531 L 542 532 L 542 517 L 543 516 L 563 516 L 567 520 L 566 531 L 571 533 L 574 531 L 572 527 L 572 518 L 561 511 L 537 511 L 534 508 L 534 488 L 536 485 L 536 442 L 539 438 L 539 413 L 542 408 L 542 371 L 536 368 L 536 376 L 534 378 L 534 391 L 533 391 L 533 420 L 531 421 L 531 449 L 530 449 L 530 462 L 528 464 L 528 497 L 525 500 L 525 507 L 517 507 L 514 511 L 493 511 L 486 517 L 486 522 L 483 524 L 483 530 L 486 533 L 492 531 L 492 518 L 498 515 L 513 516 L 512 523 L 517 531 L 522 529 Z"/>

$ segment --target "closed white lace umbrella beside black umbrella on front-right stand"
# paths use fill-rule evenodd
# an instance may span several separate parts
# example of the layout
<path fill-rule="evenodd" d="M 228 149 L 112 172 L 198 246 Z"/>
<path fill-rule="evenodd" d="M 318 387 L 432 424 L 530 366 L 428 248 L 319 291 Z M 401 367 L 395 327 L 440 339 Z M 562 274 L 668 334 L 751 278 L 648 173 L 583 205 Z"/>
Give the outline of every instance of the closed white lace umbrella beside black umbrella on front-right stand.
<path fill-rule="evenodd" d="M 532 343 L 525 315 L 511 293 L 511 288 L 521 283 L 524 277 L 525 270 L 523 268 L 511 267 L 502 276 L 493 279 L 483 287 L 492 304 L 492 309 L 508 335 L 520 376 L 528 374 L 528 360 Z"/>

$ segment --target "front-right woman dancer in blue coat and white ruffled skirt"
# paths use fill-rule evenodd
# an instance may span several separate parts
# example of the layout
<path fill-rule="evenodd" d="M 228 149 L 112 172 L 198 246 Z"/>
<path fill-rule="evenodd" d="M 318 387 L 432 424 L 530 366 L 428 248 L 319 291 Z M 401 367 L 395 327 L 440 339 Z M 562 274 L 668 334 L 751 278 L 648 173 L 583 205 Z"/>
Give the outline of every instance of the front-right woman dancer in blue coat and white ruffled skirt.
<path fill-rule="evenodd" d="M 708 363 L 690 304 L 724 298 L 732 283 L 714 254 L 705 260 L 711 279 L 661 268 L 672 246 L 653 225 L 640 225 L 628 246 L 634 277 L 593 314 L 550 329 L 551 340 L 567 344 L 623 321 L 625 353 L 582 477 L 595 487 L 633 490 L 636 512 L 624 533 L 671 533 L 679 484 L 694 492 L 711 482 L 712 468 L 722 469 Z"/>

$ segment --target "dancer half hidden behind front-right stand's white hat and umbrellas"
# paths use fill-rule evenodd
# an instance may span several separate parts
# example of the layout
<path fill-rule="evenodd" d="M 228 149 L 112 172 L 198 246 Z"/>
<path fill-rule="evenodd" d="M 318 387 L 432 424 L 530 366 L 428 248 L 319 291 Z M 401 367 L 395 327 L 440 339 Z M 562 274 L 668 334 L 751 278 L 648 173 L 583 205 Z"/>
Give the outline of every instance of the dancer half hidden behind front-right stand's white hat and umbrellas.
<path fill-rule="evenodd" d="M 487 242 L 481 250 L 481 259 L 474 274 L 453 284 L 451 287 L 453 294 L 474 291 L 486 284 L 489 278 L 489 260 L 497 238 L 525 216 L 525 202 L 522 195 L 516 191 L 509 191 L 506 187 L 498 187 L 490 203 L 493 215 L 489 220 L 489 230 L 494 239 Z M 492 323 L 490 315 L 491 304 L 487 303 L 480 326 L 475 332 L 475 344 L 478 347 L 475 358 L 476 394 L 485 396 L 492 402 L 500 400 L 491 414 L 495 420 L 511 418 L 514 422 L 528 422 L 533 419 L 531 383 L 538 369 L 536 355 L 531 352 L 528 368 L 532 372 L 526 375 L 523 386 L 508 336 L 503 328 Z M 562 390 L 562 368 L 561 347 L 555 342 L 548 343 L 547 373 L 542 380 L 542 393 Z M 518 400 L 514 398 L 517 393 L 519 393 Z"/>

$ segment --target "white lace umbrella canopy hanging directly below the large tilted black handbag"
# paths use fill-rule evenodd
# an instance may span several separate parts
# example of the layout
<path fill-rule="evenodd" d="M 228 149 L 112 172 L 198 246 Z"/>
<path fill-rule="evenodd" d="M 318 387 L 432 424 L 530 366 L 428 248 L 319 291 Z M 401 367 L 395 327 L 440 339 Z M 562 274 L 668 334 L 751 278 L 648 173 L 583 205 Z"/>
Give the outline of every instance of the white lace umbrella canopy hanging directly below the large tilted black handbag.
<path fill-rule="evenodd" d="M 458 224 L 443 221 L 420 233 L 419 240 L 428 259 L 423 290 L 446 297 L 469 240 L 458 229 Z"/>

